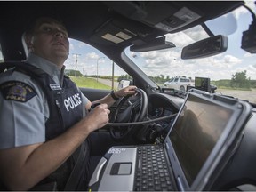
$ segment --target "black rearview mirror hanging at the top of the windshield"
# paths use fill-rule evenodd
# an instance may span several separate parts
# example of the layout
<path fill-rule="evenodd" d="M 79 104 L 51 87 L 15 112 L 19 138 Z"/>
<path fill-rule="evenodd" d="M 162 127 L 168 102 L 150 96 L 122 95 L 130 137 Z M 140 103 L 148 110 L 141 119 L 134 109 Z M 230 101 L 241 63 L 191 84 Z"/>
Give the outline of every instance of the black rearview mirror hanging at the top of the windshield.
<path fill-rule="evenodd" d="M 181 59 L 196 59 L 210 57 L 212 55 L 226 52 L 228 48 L 227 36 L 211 36 L 194 44 L 184 47 L 181 52 Z"/>

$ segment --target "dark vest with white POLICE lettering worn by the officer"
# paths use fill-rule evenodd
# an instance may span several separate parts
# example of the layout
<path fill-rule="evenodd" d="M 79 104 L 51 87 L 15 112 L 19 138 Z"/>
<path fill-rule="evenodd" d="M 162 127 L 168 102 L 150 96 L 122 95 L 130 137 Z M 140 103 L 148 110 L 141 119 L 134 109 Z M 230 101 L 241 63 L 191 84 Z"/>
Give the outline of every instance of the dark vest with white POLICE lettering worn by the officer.
<path fill-rule="evenodd" d="M 22 72 L 32 79 L 44 90 L 47 98 L 50 117 L 45 123 L 45 140 L 52 140 L 61 133 L 65 132 L 70 126 L 76 124 L 83 117 L 82 95 L 77 90 L 68 76 L 64 76 L 63 85 L 60 88 L 52 77 L 46 74 L 42 69 L 36 68 L 26 62 L 5 62 L 0 64 L 0 72 L 4 69 L 12 69 Z M 78 148 L 73 156 L 70 156 L 65 164 L 62 164 L 58 170 L 52 172 L 40 183 L 57 181 L 58 189 L 63 190 L 68 180 L 70 172 L 76 164 L 76 158 L 79 155 Z M 47 163 L 46 163 L 47 164 Z M 82 172 L 82 170 L 81 170 Z"/>

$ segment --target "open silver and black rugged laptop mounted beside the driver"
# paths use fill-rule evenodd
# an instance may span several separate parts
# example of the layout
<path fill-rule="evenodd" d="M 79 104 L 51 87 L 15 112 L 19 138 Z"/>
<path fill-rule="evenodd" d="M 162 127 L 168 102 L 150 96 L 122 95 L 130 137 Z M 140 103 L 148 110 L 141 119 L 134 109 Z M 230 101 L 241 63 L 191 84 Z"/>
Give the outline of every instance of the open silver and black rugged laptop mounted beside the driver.
<path fill-rule="evenodd" d="M 214 94 L 198 94 L 192 90 L 188 92 L 178 115 L 170 125 L 164 143 L 110 148 L 93 172 L 89 189 L 209 189 L 212 181 L 218 177 L 220 170 L 238 148 L 250 111 L 247 102 Z M 150 148 L 155 148 L 156 152 L 149 152 L 149 159 L 141 157 Z M 145 165 L 142 160 L 146 161 Z M 148 165 L 149 161 L 160 164 L 160 168 Z M 164 163 L 159 163 L 160 161 Z M 148 173 L 148 170 L 151 172 Z M 164 188 L 159 181 L 146 180 L 158 176 L 164 181 Z"/>

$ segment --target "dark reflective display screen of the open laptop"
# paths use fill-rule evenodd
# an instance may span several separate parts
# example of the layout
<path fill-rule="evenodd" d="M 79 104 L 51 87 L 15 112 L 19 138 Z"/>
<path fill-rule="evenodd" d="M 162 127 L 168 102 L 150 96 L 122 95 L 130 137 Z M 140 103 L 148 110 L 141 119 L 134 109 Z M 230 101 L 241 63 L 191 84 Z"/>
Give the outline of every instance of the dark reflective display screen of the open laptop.
<path fill-rule="evenodd" d="M 233 110 L 189 94 L 169 134 L 188 185 L 196 179 Z"/>

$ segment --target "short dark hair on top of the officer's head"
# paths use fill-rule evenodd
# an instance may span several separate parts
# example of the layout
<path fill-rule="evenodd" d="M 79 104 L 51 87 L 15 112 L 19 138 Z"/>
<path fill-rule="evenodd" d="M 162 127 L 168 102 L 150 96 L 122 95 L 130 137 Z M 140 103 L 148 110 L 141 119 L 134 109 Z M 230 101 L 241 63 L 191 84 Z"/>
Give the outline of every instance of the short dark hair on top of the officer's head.
<path fill-rule="evenodd" d="M 34 35 L 36 28 L 39 28 L 44 23 L 56 23 L 60 25 L 64 30 L 68 31 L 61 20 L 53 19 L 50 17 L 40 17 L 29 22 L 28 27 L 25 31 L 25 35 Z"/>

